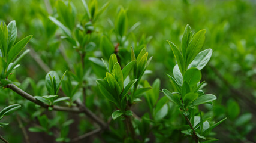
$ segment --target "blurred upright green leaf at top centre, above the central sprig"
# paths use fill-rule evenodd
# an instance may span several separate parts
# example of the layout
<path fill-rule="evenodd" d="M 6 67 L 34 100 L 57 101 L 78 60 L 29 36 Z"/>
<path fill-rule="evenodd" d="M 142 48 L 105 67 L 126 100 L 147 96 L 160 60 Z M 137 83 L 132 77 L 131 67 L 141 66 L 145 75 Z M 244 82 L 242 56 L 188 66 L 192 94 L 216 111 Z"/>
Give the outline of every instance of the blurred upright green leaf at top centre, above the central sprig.
<path fill-rule="evenodd" d="M 128 19 L 127 19 L 127 11 L 124 8 L 118 13 L 115 22 L 116 32 L 122 37 L 126 35 L 128 30 Z"/>

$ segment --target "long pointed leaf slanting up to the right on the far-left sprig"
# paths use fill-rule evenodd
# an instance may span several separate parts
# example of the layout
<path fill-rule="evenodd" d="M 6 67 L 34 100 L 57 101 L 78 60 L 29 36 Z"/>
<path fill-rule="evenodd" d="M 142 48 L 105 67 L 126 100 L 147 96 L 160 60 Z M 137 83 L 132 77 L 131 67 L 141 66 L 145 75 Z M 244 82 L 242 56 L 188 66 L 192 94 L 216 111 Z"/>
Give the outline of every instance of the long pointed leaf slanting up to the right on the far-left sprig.
<path fill-rule="evenodd" d="M 29 42 L 29 40 L 32 38 L 32 35 L 26 36 L 23 38 L 21 41 L 17 42 L 13 48 L 10 49 L 8 52 L 8 57 L 7 57 L 7 63 L 11 63 L 17 55 L 22 51 L 22 49 L 26 46 L 26 44 Z"/>

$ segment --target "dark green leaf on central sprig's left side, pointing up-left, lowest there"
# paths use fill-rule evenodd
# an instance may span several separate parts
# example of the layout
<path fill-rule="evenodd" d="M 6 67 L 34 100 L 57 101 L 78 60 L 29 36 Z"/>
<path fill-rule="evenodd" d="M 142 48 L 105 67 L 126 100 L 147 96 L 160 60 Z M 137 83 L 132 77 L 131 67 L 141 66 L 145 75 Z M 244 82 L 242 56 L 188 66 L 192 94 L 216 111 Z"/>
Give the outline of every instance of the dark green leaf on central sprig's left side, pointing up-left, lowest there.
<path fill-rule="evenodd" d="M 97 80 L 96 81 L 98 88 L 100 89 L 101 94 L 103 94 L 104 97 L 107 98 L 107 100 L 114 102 L 115 104 L 117 104 L 116 98 L 113 97 L 113 94 L 109 91 L 110 86 L 107 83 L 106 80 Z"/>

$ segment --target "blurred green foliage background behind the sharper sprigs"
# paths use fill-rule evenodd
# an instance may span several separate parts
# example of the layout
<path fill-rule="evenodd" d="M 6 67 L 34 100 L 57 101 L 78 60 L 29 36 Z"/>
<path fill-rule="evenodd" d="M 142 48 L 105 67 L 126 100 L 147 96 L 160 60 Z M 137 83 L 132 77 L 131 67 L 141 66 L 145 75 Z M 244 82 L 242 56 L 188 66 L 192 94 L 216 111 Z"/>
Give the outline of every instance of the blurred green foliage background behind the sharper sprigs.
<path fill-rule="evenodd" d="M 77 9 L 79 21 L 85 13 L 82 2 L 71 2 Z M 106 2 L 98 1 L 98 5 Z M 58 58 L 62 57 L 58 48 L 60 45 L 70 45 L 60 43 L 58 27 L 47 18 L 48 13 L 53 14 L 56 11 L 51 8 L 53 5 L 55 1 L 1 0 L 0 20 L 5 23 L 16 20 L 18 39 L 33 35 L 29 47 L 34 49 L 51 69 L 65 71 L 67 64 L 62 63 L 62 58 Z M 212 48 L 213 57 L 202 71 L 203 80 L 208 84 L 206 92 L 215 94 L 218 98 L 209 114 L 216 120 L 228 117 L 216 129 L 216 138 L 220 139 L 219 142 L 255 142 L 256 1 L 113 0 L 96 23 L 95 27 L 99 32 L 107 33 L 108 29 L 113 28 L 111 21 L 115 20 L 120 5 L 128 10 L 129 27 L 140 23 L 134 30 L 134 35 L 141 41 L 149 41 L 146 46 L 149 55 L 153 56 L 149 66 L 152 73 L 147 74 L 146 79 L 152 83 L 159 78 L 161 89 L 172 88 L 165 73 L 171 74 L 176 64 L 165 40 L 179 45 L 186 24 L 189 24 L 194 32 L 207 30 L 204 49 Z M 98 46 L 96 45 L 91 55 L 97 55 L 97 51 L 100 51 Z M 67 53 L 71 59 L 76 58 L 72 57 L 71 49 Z M 16 73 L 19 82 L 26 77 L 31 77 L 35 82 L 44 79 L 44 71 L 30 55 L 22 60 L 21 65 Z M 5 92 L 0 92 L 1 94 L 0 104 L 4 107 L 7 97 Z M 202 110 L 207 108 L 212 107 L 202 107 Z M 141 105 L 136 110 L 140 115 L 147 109 Z M 11 123 L 10 127 L 1 129 L 0 133 L 9 136 L 10 142 L 21 142 L 22 134 L 16 128 L 15 123 Z M 14 135 L 16 137 L 11 141 L 10 136 Z"/>

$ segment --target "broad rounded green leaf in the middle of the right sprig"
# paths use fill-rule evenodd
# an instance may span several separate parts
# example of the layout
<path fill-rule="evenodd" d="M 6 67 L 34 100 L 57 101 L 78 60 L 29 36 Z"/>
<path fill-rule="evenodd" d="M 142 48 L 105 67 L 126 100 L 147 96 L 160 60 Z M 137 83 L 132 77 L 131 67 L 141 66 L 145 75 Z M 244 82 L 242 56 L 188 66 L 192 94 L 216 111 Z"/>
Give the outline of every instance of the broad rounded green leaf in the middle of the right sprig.
<path fill-rule="evenodd" d="M 183 80 L 188 82 L 189 86 L 192 87 L 194 85 L 197 85 L 198 82 L 201 80 L 201 72 L 195 67 L 192 67 L 191 69 L 188 69 L 185 74 Z"/>

